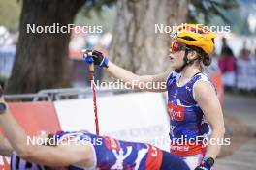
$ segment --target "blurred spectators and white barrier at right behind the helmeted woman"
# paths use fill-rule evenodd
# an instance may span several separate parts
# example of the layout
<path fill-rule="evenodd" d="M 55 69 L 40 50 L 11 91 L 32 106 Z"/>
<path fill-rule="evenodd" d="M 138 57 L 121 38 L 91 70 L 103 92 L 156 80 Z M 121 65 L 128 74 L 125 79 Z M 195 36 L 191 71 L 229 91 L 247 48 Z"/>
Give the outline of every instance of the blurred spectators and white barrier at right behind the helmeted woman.
<path fill-rule="evenodd" d="M 225 37 L 222 38 L 221 43 L 220 54 L 214 55 L 223 76 L 225 89 L 255 90 L 256 46 L 254 41 L 252 40 L 248 44 L 248 41 L 244 40 L 238 56 L 235 56 Z"/>

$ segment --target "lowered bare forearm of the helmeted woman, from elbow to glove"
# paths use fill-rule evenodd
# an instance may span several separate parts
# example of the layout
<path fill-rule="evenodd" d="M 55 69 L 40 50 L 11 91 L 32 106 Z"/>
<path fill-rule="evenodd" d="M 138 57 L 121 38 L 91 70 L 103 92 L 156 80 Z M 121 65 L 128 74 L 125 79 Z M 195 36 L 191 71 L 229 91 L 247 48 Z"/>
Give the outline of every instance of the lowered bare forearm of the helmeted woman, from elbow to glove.
<path fill-rule="evenodd" d="M 208 139 L 206 156 L 216 158 L 219 155 L 221 146 L 223 145 L 224 129 L 212 130 Z"/>

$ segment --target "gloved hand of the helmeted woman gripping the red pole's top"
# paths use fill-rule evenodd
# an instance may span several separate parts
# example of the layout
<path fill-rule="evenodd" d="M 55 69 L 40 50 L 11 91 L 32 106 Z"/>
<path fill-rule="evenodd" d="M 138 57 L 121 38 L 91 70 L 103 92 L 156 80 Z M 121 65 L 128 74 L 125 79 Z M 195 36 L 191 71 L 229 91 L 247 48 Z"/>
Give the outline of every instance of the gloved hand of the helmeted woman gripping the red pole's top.
<path fill-rule="evenodd" d="M 94 65 L 98 65 L 103 68 L 108 68 L 109 59 L 107 57 L 104 57 L 103 54 L 96 50 L 83 50 L 82 51 L 83 58 L 85 59 L 86 63 Z"/>

